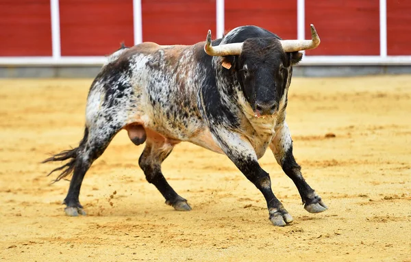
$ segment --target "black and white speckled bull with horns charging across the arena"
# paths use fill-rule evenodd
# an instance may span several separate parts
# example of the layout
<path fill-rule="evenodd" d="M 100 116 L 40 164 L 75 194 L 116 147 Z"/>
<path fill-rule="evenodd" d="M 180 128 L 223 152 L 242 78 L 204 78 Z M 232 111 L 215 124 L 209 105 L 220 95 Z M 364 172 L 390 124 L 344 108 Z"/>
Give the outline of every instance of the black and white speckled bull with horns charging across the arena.
<path fill-rule="evenodd" d="M 292 216 L 275 197 L 271 179 L 258 163 L 267 148 L 295 183 L 310 213 L 327 206 L 301 175 L 292 154 L 286 123 L 292 66 L 299 51 L 320 43 L 282 40 L 256 26 L 242 26 L 212 41 L 191 46 L 143 42 L 121 47 L 92 82 L 86 103 L 86 127 L 79 146 L 45 159 L 66 161 L 55 181 L 73 173 L 64 199 L 67 215 L 85 215 L 79 192 L 87 170 L 122 129 L 136 145 L 145 142 L 138 163 L 167 205 L 189 211 L 190 205 L 164 179 L 161 164 L 179 142 L 191 142 L 227 155 L 260 190 L 275 226 Z"/>

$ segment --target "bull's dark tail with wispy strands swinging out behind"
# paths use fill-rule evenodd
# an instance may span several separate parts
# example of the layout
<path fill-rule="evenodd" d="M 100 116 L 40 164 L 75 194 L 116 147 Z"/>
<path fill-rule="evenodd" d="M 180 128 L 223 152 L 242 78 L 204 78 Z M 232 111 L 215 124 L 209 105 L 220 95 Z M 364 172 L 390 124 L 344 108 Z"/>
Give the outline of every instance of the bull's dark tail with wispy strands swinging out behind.
<path fill-rule="evenodd" d="M 64 179 L 66 176 L 69 176 L 73 173 L 74 168 L 75 168 L 75 164 L 76 164 L 76 161 L 77 161 L 77 157 L 79 156 L 79 150 L 84 149 L 84 146 L 87 142 L 87 137 L 88 137 L 88 129 L 86 127 L 86 129 L 84 130 L 84 137 L 83 137 L 82 141 L 80 141 L 78 147 L 72 148 L 72 149 L 69 149 L 69 150 L 64 150 L 64 151 L 62 151 L 58 154 L 55 154 L 52 157 L 49 157 L 49 158 L 45 159 L 44 161 L 42 161 L 42 163 L 47 163 L 47 162 L 51 162 L 51 161 L 69 160 L 63 166 L 55 168 L 55 169 L 51 170 L 51 172 L 49 172 L 49 174 L 47 174 L 47 176 L 49 176 L 50 174 L 52 174 L 55 171 L 62 170 L 61 173 L 57 176 L 57 178 L 53 181 L 53 183 L 55 183 L 57 181 L 60 181 L 61 179 Z"/>

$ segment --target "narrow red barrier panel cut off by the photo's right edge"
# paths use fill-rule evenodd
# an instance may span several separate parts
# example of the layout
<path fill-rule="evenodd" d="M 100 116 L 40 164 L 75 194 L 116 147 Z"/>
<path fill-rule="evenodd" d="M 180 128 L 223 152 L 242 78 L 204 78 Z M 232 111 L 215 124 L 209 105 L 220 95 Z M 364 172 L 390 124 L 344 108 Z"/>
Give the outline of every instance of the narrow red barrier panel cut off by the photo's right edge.
<path fill-rule="evenodd" d="M 411 55 L 411 1 L 387 0 L 388 55 Z"/>

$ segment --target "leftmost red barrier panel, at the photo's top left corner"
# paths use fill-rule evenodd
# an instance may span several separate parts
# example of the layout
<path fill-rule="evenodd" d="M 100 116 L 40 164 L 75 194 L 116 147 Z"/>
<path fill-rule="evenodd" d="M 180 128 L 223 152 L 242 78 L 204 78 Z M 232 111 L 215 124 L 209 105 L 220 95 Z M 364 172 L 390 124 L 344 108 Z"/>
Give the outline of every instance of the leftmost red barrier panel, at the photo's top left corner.
<path fill-rule="evenodd" d="M 0 0 L 0 56 L 51 52 L 50 0 Z"/>

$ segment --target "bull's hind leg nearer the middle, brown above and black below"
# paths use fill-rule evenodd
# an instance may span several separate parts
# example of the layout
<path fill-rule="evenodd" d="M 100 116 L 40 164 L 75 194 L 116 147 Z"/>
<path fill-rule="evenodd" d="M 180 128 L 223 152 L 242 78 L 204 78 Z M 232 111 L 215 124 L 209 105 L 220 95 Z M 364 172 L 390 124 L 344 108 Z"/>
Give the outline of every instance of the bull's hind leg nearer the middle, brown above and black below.
<path fill-rule="evenodd" d="M 164 196 L 167 205 L 173 206 L 175 210 L 190 211 L 191 207 L 187 200 L 174 191 L 161 172 L 161 163 L 170 155 L 173 147 L 169 143 L 151 140 L 147 137 L 146 146 L 138 159 L 138 164 L 144 171 L 147 181 L 155 185 Z"/>

